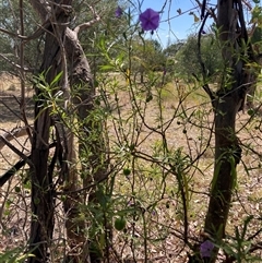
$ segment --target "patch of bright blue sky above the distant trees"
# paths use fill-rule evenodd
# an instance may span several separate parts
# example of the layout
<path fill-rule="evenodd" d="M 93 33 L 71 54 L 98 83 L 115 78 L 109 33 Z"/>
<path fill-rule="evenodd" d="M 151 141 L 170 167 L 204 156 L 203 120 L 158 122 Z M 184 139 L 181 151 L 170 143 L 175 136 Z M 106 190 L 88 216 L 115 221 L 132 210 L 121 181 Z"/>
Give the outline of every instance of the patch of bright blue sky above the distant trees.
<path fill-rule="evenodd" d="M 141 2 L 142 0 L 136 1 Z M 200 17 L 200 9 L 194 0 L 143 0 L 141 11 L 143 12 L 147 8 L 160 11 L 165 2 L 167 2 L 167 4 L 160 14 L 159 28 L 152 36 L 152 38 L 157 39 L 163 47 L 186 39 L 188 35 L 198 32 L 200 27 L 200 22 L 194 23 L 194 16 L 189 14 L 191 11 Z M 217 0 L 210 0 L 207 2 L 215 7 L 214 4 Z M 181 10 L 181 15 L 179 15 L 177 11 L 179 9 Z M 210 19 L 206 24 L 210 25 L 212 22 L 212 19 Z M 204 31 L 207 32 L 209 26 L 205 26 Z"/>

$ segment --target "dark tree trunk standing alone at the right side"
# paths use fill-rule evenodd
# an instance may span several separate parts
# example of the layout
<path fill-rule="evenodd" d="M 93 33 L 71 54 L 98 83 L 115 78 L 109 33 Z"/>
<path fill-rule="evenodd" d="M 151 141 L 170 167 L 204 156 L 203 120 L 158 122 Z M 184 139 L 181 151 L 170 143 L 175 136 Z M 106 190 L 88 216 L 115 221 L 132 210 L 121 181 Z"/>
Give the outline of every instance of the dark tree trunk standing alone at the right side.
<path fill-rule="evenodd" d="M 215 115 L 215 165 L 211 199 L 205 217 L 204 231 L 211 241 L 219 246 L 225 228 L 237 180 L 236 166 L 241 158 L 241 148 L 236 135 L 236 116 L 243 109 L 245 97 L 250 86 L 246 72 L 247 61 L 253 59 L 248 44 L 241 0 L 217 1 L 217 28 L 222 43 L 225 72 L 222 85 L 213 100 Z M 243 44 L 243 46 L 241 46 Z M 229 72 L 229 75 L 228 75 Z M 216 261 L 215 247 L 211 261 Z"/>

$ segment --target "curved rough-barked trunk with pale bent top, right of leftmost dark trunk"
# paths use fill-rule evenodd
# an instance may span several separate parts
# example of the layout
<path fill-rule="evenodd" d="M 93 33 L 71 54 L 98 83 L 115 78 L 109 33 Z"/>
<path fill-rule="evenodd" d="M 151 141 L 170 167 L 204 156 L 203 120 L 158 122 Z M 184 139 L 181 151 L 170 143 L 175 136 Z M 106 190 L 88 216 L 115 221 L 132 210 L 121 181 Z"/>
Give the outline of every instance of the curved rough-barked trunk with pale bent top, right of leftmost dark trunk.
<path fill-rule="evenodd" d="M 75 31 L 67 28 L 66 50 L 70 65 L 70 86 L 75 105 L 78 105 L 78 124 L 79 124 L 79 158 L 82 167 L 83 188 L 91 183 L 99 183 L 107 174 L 107 163 L 105 162 L 105 143 L 103 140 L 102 123 L 94 120 L 91 112 L 94 110 L 95 86 L 88 61 L 78 39 Z M 82 200 L 86 200 L 86 192 L 82 192 Z M 88 190 L 87 202 L 97 202 L 95 200 L 96 188 Z M 73 219 L 73 217 L 72 217 Z M 96 226 L 93 225 L 93 228 Z M 99 244 L 96 240 L 88 238 L 88 250 L 91 262 L 100 262 L 103 251 L 99 251 Z M 85 261 L 82 261 L 85 262 Z"/>

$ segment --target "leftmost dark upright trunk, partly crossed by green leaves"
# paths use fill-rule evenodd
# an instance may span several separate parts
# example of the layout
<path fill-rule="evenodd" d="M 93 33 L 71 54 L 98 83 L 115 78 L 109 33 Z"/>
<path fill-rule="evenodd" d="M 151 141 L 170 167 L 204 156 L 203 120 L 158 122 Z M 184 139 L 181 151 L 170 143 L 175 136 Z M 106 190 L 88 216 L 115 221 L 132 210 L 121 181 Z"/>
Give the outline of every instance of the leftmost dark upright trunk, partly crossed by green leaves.
<path fill-rule="evenodd" d="M 46 83 L 51 81 L 61 72 L 61 50 L 58 37 L 62 37 L 66 29 L 66 22 L 69 16 L 58 5 L 56 10 L 56 24 L 47 28 L 45 39 L 45 51 L 40 72 L 45 72 Z M 59 32 L 57 36 L 56 32 Z M 41 83 L 44 84 L 44 83 Z M 50 110 L 46 108 L 45 88 L 35 86 L 37 101 L 35 103 L 35 122 L 32 143 L 32 223 L 29 235 L 29 249 L 34 258 L 28 258 L 27 263 L 40 263 L 48 261 L 48 249 L 52 242 L 53 231 L 53 181 L 52 169 L 49 169 L 49 134 L 51 127 Z"/>

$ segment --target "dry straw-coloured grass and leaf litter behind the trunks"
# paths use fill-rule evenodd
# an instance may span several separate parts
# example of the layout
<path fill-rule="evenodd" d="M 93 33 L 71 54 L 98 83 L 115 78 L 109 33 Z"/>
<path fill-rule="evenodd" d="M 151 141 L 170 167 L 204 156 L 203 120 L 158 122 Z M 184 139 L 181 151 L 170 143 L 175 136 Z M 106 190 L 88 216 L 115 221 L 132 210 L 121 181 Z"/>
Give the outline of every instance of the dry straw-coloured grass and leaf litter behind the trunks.
<path fill-rule="evenodd" d="M 164 134 L 172 156 L 180 148 L 191 159 L 195 158 L 194 165 L 186 170 L 186 176 L 189 178 L 190 191 L 188 234 L 190 241 L 198 239 L 206 213 L 209 200 L 206 192 L 212 180 L 214 162 L 214 138 L 211 134 L 213 113 L 209 99 L 201 88 L 194 88 L 193 85 L 168 83 L 162 89 L 158 87 L 151 91 L 152 100 L 150 103 L 145 103 L 146 93 L 139 96 L 136 100 L 139 111 L 136 106 L 134 107 L 132 94 L 128 89 L 126 81 L 121 79 L 116 79 L 116 81 L 118 83 L 115 87 L 119 88 L 117 89 L 117 100 L 115 99 L 116 91 L 112 92 L 114 87 L 107 87 L 110 95 L 109 103 L 112 107 L 116 106 L 108 120 L 108 138 L 111 148 L 118 151 L 117 158 L 126 158 L 123 167 L 131 167 L 131 175 L 130 177 L 123 176 L 121 169 L 116 174 L 114 193 L 110 196 L 115 202 L 111 215 L 115 217 L 118 208 L 126 211 L 128 206 L 124 214 L 128 223 L 124 232 L 114 231 L 112 249 L 126 262 L 133 256 L 136 262 L 144 262 L 145 250 L 151 259 L 150 262 L 184 262 L 188 248 L 183 247 L 181 240 L 183 215 L 181 202 L 177 195 L 176 177 L 171 174 L 165 174 L 165 170 L 160 170 L 159 165 L 156 168 L 153 162 L 139 159 L 139 157 L 135 160 L 132 159 L 133 157 L 127 154 L 126 150 L 120 152 L 119 145 L 124 146 L 124 142 L 135 143 L 138 156 L 155 155 L 162 157 L 162 152 L 158 148 L 163 146 Z M 5 81 L 0 99 L 19 113 L 19 105 L 14 103 L 16 100 L 13 100 L 12 97 L 13 95 L 19 97 L 19 89 L 9 93 L 7 89 L 11 85 L 10 83 L 14 83 L 14 80 Z M 139 85 L 133 91 L 138 92 L 138 88 L 144 87 Z M 8 99 L 5 99 L 7 97 Z M 10 113 L 3 104 L 1 107 L 3 118 L 0 129 L 4 132 L 16 127 L 19 118 L 14 112 Z M 144 118 L 141 118 L 141 112 L 143 112 Z M 136 130 L 132 127 L 133 120 L 136 121 Z M 116 129 L 120 121 L 122 131 Z M 234 236 L 236 227 L 240 230 L 243 218 L 252 214 L 254 219 L 248 228 L 247 237 L 249 237 L 260 229 L 261 224 L 261 130 L 253 129 L 260 121 L 259 119 L 250 121 L 247 112 L 240 112 L 237 122 L 239 129 L 246 125 L 239 132 L 241 142 L 257 151 L 259 155 L 254 155 L 248 148 L 243 152 L 243 163 L 238 166 L 239 180 L 236 186 L 227 230 L 229 235 Z M 159 132 L 163 123 L 166 130 Z M 211 140 L 209 140 L 210 135 L 212 135 Z M 25 147 L 25 152 L 29 151 L 29 145 L 25 143 L 25 140 L 19 140 L 14 143 L 21 150 Z M 199 155 L 201 157 L 198 159 Z M 17 159 L 17 156 L 5 146 L 1 151 L 1 172 L 4 172 Z M 133 167 L 132 160 L 135 162 Z M 28 238 L 29 189 L 24 183 L 25 174 L 21 172 L 21 176 L 15 176 L 3 189 L 0 189 L 1 198 L 4 201 L 0 210 L 2 212 L 0 224 L 3 237 L 0 241 L 0 252 L 24 246 Z M 166 178 L 163 178 L 163 175 L 166 175 Z M 58 241 L 55 242 L 58 247 L 64 238 L 64 229 L 59 227 L 63 219 L 64 216 L 58 213 L 57 220 L 60 222 L 60 225 L 57 224 L 56 237 Z M 258 235 L 257 239 L 260 240 L 260 238 L 261 236 Z M 55 251 L 56 247 L 53 248 Z M 258 256 L 262 258 L 260 250 L 258 250 Z M 118 260 L 115 259 L 112 262 L 119 262 Z"/>

